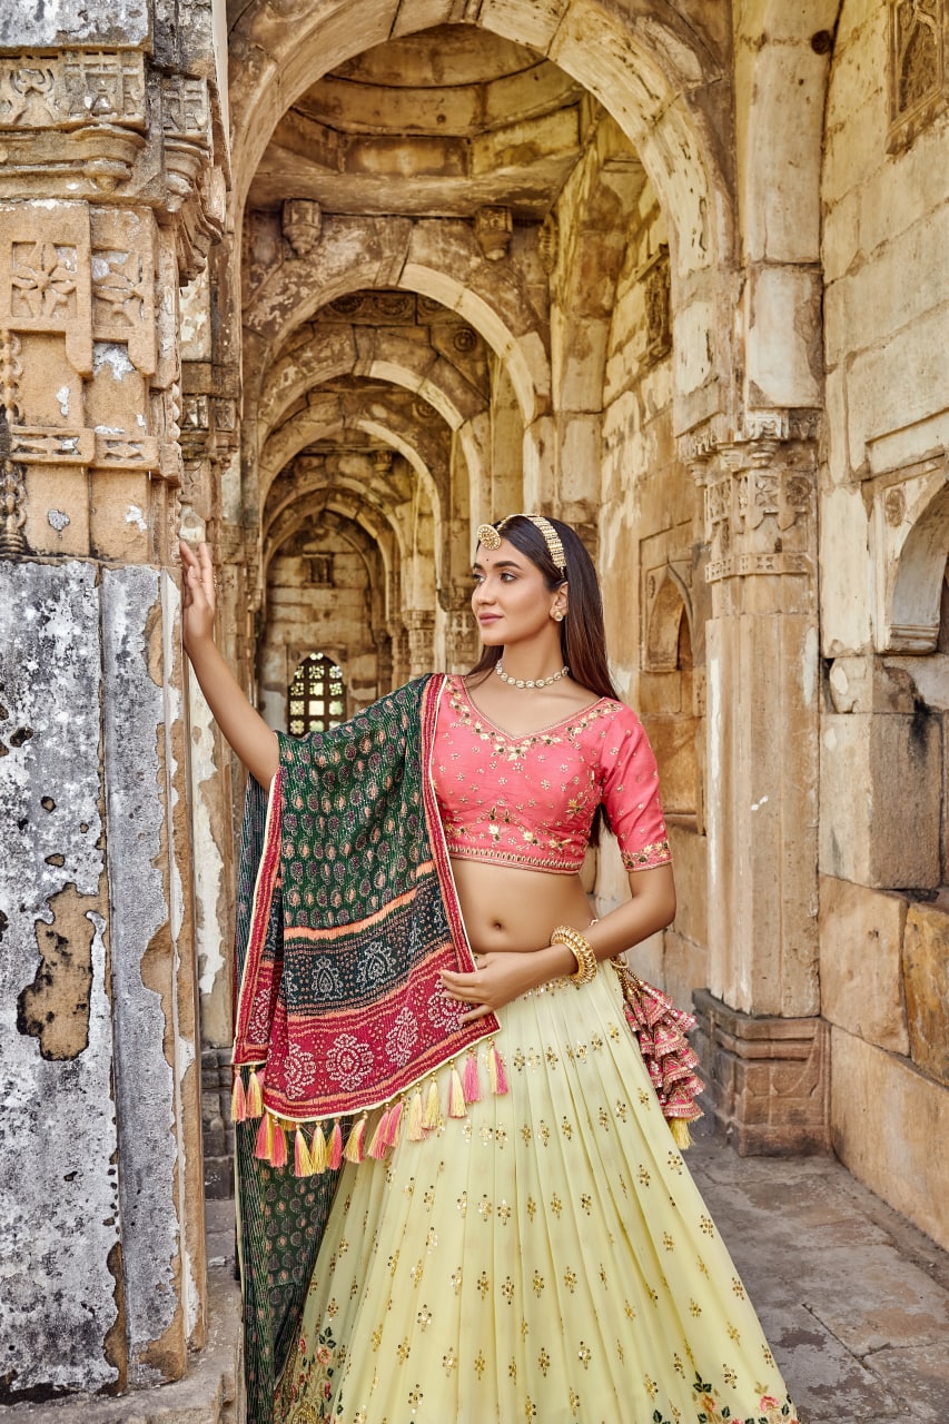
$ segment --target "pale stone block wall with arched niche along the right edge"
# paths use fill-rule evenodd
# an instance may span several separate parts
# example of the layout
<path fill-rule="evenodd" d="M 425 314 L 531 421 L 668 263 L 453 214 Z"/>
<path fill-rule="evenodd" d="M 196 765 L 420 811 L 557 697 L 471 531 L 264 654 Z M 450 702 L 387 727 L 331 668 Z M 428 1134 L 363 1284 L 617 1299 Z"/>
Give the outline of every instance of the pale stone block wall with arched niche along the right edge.
<path fill-rule="evenodd" d="M 911 7 L 846 0 L 822 169 L 822 1012 L 838 1153 L 946 1245 L 943 83 Z"/>

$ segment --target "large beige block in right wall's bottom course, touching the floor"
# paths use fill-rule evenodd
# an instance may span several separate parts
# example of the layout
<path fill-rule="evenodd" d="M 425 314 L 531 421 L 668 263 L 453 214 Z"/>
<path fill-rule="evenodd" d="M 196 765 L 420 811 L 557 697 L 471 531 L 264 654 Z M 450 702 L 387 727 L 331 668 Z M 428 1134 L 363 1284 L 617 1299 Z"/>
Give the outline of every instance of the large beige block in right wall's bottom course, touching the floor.
<path fill-rule="evenodd" d="M 949 1249 L 949 1094 L 912 1064 L 832 1030 L 831 1124 L 841 1162 Z"/>

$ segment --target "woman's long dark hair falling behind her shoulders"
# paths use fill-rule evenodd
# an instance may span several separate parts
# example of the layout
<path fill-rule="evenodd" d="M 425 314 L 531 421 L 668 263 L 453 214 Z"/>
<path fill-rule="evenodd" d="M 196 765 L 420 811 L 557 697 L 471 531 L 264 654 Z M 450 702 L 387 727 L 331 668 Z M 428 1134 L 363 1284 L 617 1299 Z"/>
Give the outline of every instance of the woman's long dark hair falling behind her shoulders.
<path fill-rule="evenodd" d="M 536 564 L 551 594 L 561 584 L 570 585 L 567 617 L 560 624 L 560 651 L 563 661 L 570 668 L 570 676 L 580 686 L 590 688 L 597 696 L 618 701 L 606 655 L 600 581 L 580 537 L 561 520 L 547 521 L 553 524 L 563 544 L 567 560 L 564 575 L 550 557 L 547 541 L 536 524 L 531 524 L 523 514 L 514 514 L 504 521 L 499 520 L 500 523 L 504 525 L 499 528 L 500 537 L 513 544 L 520 554 L 526 554 L 531 564 Z M 494 664 L 500 662 L 502 654 L 503 648 L 483 648 L 469 676 L 490 672 Z"/>

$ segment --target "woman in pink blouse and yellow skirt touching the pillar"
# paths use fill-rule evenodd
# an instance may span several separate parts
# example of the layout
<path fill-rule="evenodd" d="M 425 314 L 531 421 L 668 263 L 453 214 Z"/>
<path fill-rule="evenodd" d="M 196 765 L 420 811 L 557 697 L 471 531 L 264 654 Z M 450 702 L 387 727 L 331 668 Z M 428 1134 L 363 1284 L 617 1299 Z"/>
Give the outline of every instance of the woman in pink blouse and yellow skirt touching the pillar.
<path fill-rule="evenodd" d="M 262 968 L 238 1005 L 244 1047 L 235 1061 L 255 1072 L 266 1065 L 255 1143 L 256 1162 L 269 1163 L 261 1168 L 261 1219 L 276 1173 L 285 1183 L 291 1171 L 282 1166 L 285 1128 L 306 1124 L 295 1131 L 299 1175 L 289 1179 L 298 1189 L 313 1180 L 308 1168 L 318 1180 L 323 1169 L 342 1168 L 325 1223 L 313 1208 L 325 1233 L 304 1263 L 305 1296 L 289 1327 L 274 1330 L 274 1418 L 792 1420 L 607 963 L 673 920 L 675 893 L 655 762 L 613 691 L 598 587 L 580 540 L 540 515 L 482 525 L 472 594 L 483 642 L 477 666 L 467 678 L 432 679 L 418 713 L 415 705 L 406 713 L 396 693 L 395 723 L 390 716 L 376 732 L 370 718 L 355 740 L 342 735 L 339 753 L 318 740 L 312 755 L 278 739 L 239 693 L 211 642 L 208 551 L 195 558 L 182 548 L 182 560 L 185 646 L 234 750 L 261 786 L 279 787 L 269 815 L 279 802 L 281 834 L 292 842 L 269 862 L 266 847 L 254 852 L 264 869 L 248 934 Z M 416 716 L 422 793 L 402 789 L 392 815 L 398 775 L 379 756 L 398 736 L 412 739 Z M 358 775 L 339 780 L 353 759 Z M 388 819 L 352 813 L 351 800 L 363 792 L 372 799 L 379 787 Z M 339 815 L 349 816 L 348 827 Z M 322 816 L 319 830 L 311 820 L 301 840 L 308 816 Z M 604 817 L 628 870 L 630 900 L 591 921 L 579 870 Z M 409 837 L 396 844 L 409 822 Z M 279 837 L 269 837 L 276 846 Z M 385 874 L 376 873 L 379 847 Z M 356 849 L 369 871 L 369 906 L 348 871 L 338 873 L 341 863 L 353 866 Z M 439 940 L 430 884 L 449 930 L 453 904 L 463 917 L 447 938 Z M 398 953 L 388 940 L 378 954 L 366 933 L 382 934 L 379 917 L 392 917 L 408 894 L 416 910 L 423 906 L 400 934 L 418 940 L 400 981 L 409 987 L 400 998 L 376 995 L 365 1032 L 341 1032 L 341 1024 L 356 1025 Z M 275 904 L 294 920 L 296 948 L 268 961 Z M 346 987 L 352 944 L 349 958 L 335 956 L 355 921 L 363 937 Z M 432 921 L 436 931 L 425 941 L 416 924 Z M 455 944 L 453 961 L 440 954 L 442 941 Z M 376 965 L 375 978 L 366 964 Z M 422 964 L 436 967 L 435 983 L 419 991 L 412 975 Z M 313 974 L 322 974 L 321 994 L 306 987 Z M 258 1012 L 255 1004 L 269 1008 Z M 318 1037 L 323 1012 L 331 1040 Z M 269 1014 L 266 1042 L 262 1030 L 252 1031 L 255 1014 L 261 1022 Z M 436 1020 L 435 1042 L 420 1045 L 419 1024 Z M 400 1025 L 409 1025 L 405 1042 Z M 408 1068 L 396 1062 L 400 1047 L 415 1054 Z M 363 1084 L 362 1096 L 335 1098 L 343 1078 L 351 1087 L 363 1069 L 370 1077 L 370 1062 L 375 1072 L 383 1048 L 382 1077 Z M 322 1087 L 309 1081 L 319 1064 L 332 1079 Z M 238 1116 L 251 1096 L 259 1096 L 258 1084 L 248 1079 L 245 1089 L 241 1079 Z M 358 1116 L 346 1124 L 341 1162 L 348 1105 Z M 269 1216 L 279 1236 L 279 1212 Z M 298 1233 L 301 1252 L 305 1239 Z M 271 1269 L 271 1296 L 291 1270 Z M 258 1319 L 266 1324 L 266 1312 L 258 1309 Z"/>

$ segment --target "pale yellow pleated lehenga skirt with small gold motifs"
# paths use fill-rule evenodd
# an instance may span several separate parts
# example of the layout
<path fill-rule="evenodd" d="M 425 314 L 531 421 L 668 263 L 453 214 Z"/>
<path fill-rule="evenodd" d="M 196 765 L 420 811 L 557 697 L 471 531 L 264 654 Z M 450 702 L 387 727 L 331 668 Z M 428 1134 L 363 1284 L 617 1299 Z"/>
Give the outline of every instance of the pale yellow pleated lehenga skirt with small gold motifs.
<path fill-rule="evenodd" d="M 616 975 L 499 1017 L 507 1094 L 482 1045 L 466 1118 L 345 1168 L 275 1420 L 789 1424 Z"/>

